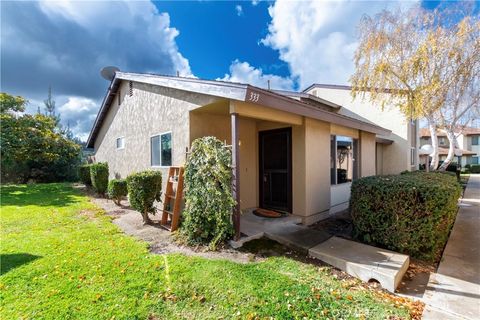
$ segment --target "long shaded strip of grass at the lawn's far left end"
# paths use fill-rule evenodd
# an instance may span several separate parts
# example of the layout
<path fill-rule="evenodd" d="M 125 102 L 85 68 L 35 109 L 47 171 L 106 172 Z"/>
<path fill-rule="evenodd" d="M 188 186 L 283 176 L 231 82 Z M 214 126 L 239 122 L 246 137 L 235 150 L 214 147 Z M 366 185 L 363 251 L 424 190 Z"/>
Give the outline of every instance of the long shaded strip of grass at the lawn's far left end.
<path fill-rule="evenodd" d="M 78 202 L 78 192 L 69 183 L 4 185 L 1 187 L 2 206 L 65 207 Z"/>

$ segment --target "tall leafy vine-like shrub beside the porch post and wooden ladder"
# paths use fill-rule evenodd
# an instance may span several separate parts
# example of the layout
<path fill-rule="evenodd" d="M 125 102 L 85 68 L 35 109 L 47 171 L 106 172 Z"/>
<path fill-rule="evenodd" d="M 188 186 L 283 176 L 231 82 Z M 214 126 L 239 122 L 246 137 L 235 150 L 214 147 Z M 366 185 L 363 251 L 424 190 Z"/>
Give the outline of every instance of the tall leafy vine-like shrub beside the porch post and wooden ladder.
<path fill-rule="evenodd" d="M 211 249 L 233 235 L 232 154 L 215 137 L 196 139 L 185 165 L 181 233 L 189 244 Z"/>

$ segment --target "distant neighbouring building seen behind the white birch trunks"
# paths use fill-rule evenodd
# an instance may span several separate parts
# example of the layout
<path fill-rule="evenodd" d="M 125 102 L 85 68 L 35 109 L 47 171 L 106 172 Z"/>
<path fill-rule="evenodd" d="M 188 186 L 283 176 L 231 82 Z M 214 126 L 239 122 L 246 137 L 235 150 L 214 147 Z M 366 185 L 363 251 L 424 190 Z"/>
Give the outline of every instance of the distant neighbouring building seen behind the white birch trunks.
<path fill-rule="evenodd" d="M 466 127 L 455 132 L 458 146 L 462 149 L 461 165 L 479 164 L 480 155 L 480 128 Z M 445 130 L 437 130 L 438 153 L 440 161 L 447 158 L 450 142 L 448 141 Z M 420 146 L 432 144 L 430 130 L 428 128 L 420 129 Z M 457 157 L 453 160 L 458 162 Z"/>

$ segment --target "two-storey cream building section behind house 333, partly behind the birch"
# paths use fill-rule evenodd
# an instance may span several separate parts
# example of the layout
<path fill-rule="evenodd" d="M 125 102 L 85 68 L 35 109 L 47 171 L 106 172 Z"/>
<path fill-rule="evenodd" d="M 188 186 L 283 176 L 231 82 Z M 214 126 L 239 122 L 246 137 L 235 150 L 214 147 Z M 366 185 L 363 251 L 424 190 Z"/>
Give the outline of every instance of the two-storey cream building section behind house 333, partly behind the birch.
<path fill-rule="evenodd" d="M 351 87 L 313 84 L 304 92 L 331 101 L 342 108 L 339 113 L 375 123 L 391 130 L 389 135 L 377 135 L 375 168 L 377 175 L 398 174 L 416 170 L 418 158 L 418 121 L 410 121 L 396 107 L 373 104 L 367 94 L 365 99 L 353 99 Z"/>

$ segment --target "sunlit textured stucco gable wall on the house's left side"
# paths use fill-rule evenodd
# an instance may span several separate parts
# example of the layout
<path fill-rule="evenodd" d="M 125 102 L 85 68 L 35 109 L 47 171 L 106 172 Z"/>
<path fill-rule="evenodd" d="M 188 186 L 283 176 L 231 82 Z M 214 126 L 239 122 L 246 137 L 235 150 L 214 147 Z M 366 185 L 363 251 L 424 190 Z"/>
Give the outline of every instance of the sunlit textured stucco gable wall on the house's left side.
<path fill-rule="evenodd" d="M 128 82 L 120 86 L 122 104 L 118 99 L 106 116 L 95 140 L 95 161 L 108 162 L 110 178 L 125 178 L 133 172 L 146 169 L 160 170 L 165 177 L 166 168 L 150 165 L 150 138 L 152 135 L 172 132 L 173 165 L 183 165 L 185 148 L 189 146 L 189 110 L 212 103 L 214 97 L 173 90 L 141 83 L 133 83 L 133 94 L 128 94 Z M 116 149 L 116 139 L 125 138 L 125 148 Z"/>

